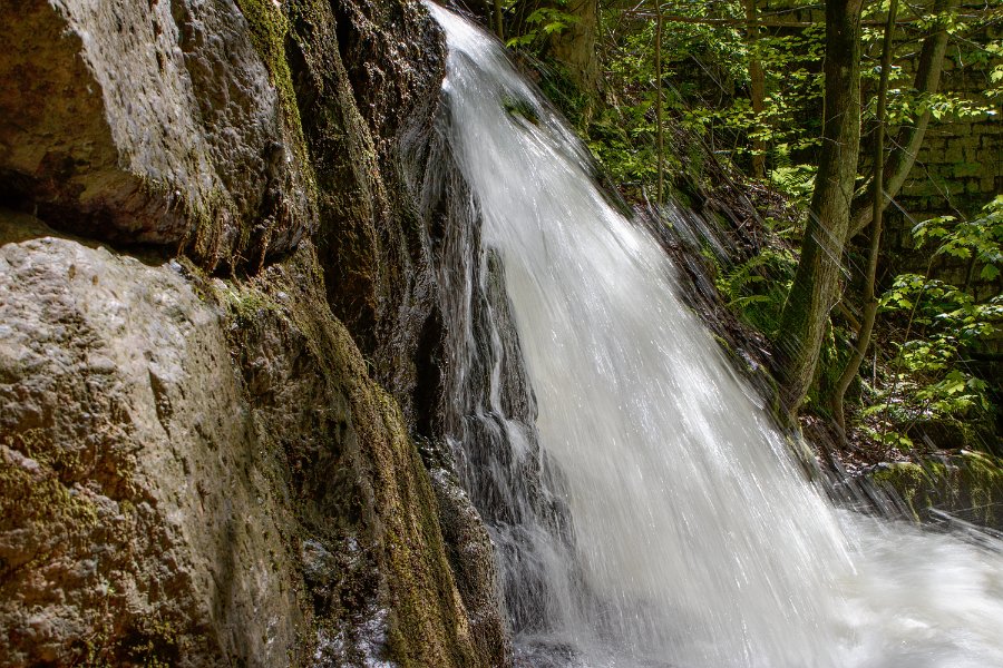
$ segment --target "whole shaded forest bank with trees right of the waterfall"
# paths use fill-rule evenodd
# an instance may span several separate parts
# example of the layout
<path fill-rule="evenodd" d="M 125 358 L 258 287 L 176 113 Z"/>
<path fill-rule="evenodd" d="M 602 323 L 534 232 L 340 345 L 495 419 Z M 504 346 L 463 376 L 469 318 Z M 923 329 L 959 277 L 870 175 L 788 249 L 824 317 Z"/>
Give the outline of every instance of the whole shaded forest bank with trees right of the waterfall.
<path fill-rule="evenodd" d="M 1003 2 L 467 9 L 629 202 L 724 230 L 700 254 L 766 337 L 782 419 L 864 465 L 967 451 L 995 465 Z"/>

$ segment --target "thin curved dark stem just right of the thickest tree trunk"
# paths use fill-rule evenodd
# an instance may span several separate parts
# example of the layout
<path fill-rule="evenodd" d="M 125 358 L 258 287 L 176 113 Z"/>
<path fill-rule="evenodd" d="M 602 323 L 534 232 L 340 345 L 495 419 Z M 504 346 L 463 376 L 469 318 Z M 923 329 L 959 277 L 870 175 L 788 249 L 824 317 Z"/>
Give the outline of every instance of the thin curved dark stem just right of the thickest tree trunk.
<path fill-rule="evenodd" d="M 885 164 L 885 106 L 888 98 L 888 72 L 892 69 L 892 51 L 894 50 L 893 39 L 895 35 L 895 16 L 898 13 L 898 0 L 892 0 L 888 8 L 888 22 L 885 24 L 885 41 L 882 46 L 882 75 L 878 82 L 878 99 L 875 110 L 875 128 L 874 140 L 874 183 L 884 183 L 884 164 Z M 846 396 L 846 390 L 860 370 L 860 363 L 867 353 L 867 346 L 870 345 L 870 332 L 874 330 L 874 320 L 877 316 L 877 296 L 875 295 L 875 283 L 877 281 L 877 261 L 878 250 L 882 245 L 882 213 L 885 209 L 884 193 L 877 193 L 871 199 L 874 213 L 870 228 L 870 249 L 867 256 L 867 278 L 864 287 L 864 317 L 860 322 L 860 331 L 857 333 L 857 345 L 854 353 L 847 362 L 843 375 L 836 383 L 836 390 L 832 393 L 831 409 L 832 418 L 839 425 L 840 433 L 846 435 L 846 419 L 844 418 L 843 399 Z"/>

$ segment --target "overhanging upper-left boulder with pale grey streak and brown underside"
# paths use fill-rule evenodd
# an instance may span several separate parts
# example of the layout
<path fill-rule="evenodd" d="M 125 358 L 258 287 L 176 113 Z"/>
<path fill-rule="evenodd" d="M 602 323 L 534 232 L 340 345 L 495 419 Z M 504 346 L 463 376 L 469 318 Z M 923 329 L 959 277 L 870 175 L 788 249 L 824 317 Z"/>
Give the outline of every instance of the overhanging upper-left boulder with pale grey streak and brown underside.
<path fill-rule="evenodd" d="M 0 197 L 89 237 L 205 266 L 313 225 L 294 110 L 232 0 L 27 0 L 0 27 Z"/>

